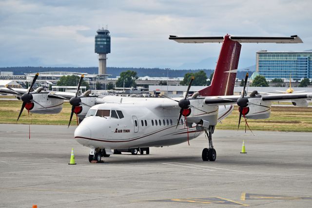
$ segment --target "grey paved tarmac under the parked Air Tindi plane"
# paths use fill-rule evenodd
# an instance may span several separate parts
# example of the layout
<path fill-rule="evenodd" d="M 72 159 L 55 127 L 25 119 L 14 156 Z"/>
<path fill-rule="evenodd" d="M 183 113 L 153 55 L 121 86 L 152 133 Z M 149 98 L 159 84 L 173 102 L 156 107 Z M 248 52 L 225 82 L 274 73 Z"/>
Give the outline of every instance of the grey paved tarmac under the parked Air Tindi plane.
<path fill-rule="evenodd" d="M 0 207 L 311 207 L 312 133 L 216 129 L 215 162 L 201 136 L 91 164 L 74 126 L 28 127 L 0 125 Z"/>

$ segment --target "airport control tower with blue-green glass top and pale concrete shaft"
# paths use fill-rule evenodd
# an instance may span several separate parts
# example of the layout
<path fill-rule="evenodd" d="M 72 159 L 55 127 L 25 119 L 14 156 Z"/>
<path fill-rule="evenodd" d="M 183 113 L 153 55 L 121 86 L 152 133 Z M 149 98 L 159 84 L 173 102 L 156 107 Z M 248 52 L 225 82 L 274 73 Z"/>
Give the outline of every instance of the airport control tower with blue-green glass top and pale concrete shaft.
<path fill-rule="evenodd" d="M 111 36 L 106 28 L 98 29 L 95 38 L 95 53 L 98 54 L 98 74 L 106 74 L 106 54 L 111 53 Z"/>

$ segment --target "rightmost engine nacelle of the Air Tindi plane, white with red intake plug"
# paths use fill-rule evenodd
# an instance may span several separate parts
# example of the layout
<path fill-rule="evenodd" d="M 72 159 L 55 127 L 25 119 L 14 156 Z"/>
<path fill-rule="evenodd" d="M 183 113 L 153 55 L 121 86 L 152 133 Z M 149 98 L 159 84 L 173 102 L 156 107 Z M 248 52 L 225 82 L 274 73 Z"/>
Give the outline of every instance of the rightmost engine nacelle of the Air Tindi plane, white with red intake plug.
<path fill-rule="evenodd" d="M 271 114 L 271 102 L 262 101 L 261 98 L 248 98 L 248 101 L 253 104 L 248 104 L 244 109 L 246 119 L 267 119 Z M 260 104 L 254 105 L 254 104 Z M 266 106 L 266 107 L 265 107 Z"/>

